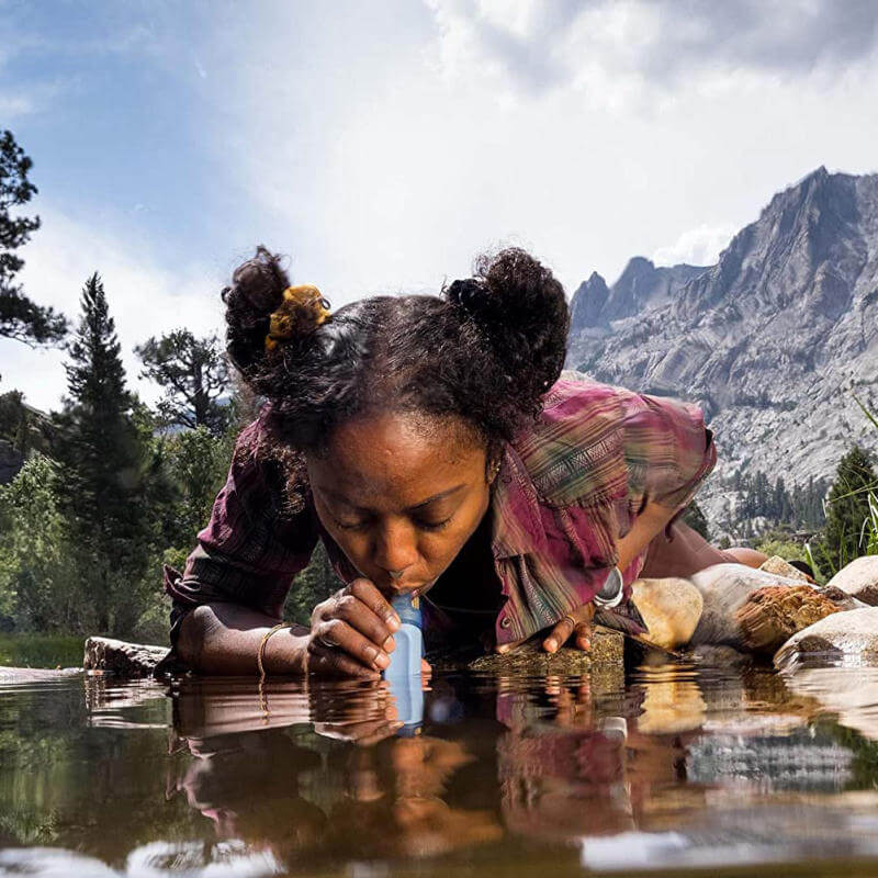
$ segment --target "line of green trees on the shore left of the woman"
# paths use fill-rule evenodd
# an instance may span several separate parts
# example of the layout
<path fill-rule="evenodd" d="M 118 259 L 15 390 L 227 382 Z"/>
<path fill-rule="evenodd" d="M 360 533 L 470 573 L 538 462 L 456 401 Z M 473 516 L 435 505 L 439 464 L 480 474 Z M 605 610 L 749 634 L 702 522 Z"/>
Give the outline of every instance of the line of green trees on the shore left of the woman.
<path fill-rule="evenodd" d="M 12 216 L 36 192 L 30 159 L 0 137 L 0 336 L 60 344 L 67 319 L 15 282 L 14 250 L 40 226 Z M 222 487 L 235 439 L 259 401 L 229 375 L 216 336 L 177 329 L 135 348 L 155 408 L 127 385 L 98 273 L 82 288 L 66 342 L 67 395 L 46 415 L 0 395 L 0 440 L 23 460 L 0 487 L 0 630 L 165 639 L 162 564 L 182 570 Z M 325 552 L 296 577 L 288 610 L 303 621 L 336 588 Z"/>

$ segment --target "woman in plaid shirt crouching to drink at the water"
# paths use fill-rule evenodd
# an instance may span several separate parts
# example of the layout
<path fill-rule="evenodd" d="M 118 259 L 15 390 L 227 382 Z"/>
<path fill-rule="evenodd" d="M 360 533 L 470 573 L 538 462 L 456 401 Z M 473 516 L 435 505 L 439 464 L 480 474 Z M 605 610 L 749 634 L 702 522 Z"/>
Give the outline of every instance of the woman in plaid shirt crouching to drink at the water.
<path fill-rule="evenodd" d="M 588 649 L 601 589 L 612 605 L 638 575 L 739 560 L 676 521 L 716 463 L 699 409 L 559 381 L 564 291 L 524 250 L 441 296 L 330 314 L 260 247 L 223 299 L 229 357 L 268 405 L 184 574 L 166 572 L 193 669 L 375 677 L 398 593 L 423 596 L 428 645 Z M 280 629 L 318 539 L 345 586 L 311 629 Z"/>

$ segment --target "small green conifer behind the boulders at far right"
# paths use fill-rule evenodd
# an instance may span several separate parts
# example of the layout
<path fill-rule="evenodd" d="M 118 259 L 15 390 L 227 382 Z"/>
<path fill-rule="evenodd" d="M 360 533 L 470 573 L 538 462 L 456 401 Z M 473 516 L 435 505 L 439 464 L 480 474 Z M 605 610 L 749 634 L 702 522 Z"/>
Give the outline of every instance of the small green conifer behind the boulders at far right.
<path fill-rule="evenodd" d="M 819 564 L 838 571 L 863 554 L 863 525 L 869 516 L 869 492 L 878 493 L 871 457 L 855 444 L 842 458 L 826 498 L 826 524 L 812 551 Z"/>

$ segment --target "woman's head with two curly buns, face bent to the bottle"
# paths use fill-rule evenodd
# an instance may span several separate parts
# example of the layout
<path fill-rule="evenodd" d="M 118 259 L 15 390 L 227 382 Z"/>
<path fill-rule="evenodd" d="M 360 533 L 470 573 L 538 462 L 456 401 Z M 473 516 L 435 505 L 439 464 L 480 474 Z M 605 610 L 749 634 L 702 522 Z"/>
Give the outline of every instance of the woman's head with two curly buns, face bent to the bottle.
<path fill-rule="evenodd" d="M 316 297 L 291 306 L 288 293 L 282 304 L 286 288 L 278 258 L 259 248 L 223 297 L 229 356 L 270 403 L 263 419 L 291 502 L 306 486 L 324 527 L 380 587 L 392 587 L 390 571 L 403 587 L 426 586 L 477 527 L 505 442 L 561 372 L 564 291 L 515 248 L 480 258 L 441 296 L 373 296 L 328 319 Z M 295 329 L 267 346 L 279 308 Z"/>

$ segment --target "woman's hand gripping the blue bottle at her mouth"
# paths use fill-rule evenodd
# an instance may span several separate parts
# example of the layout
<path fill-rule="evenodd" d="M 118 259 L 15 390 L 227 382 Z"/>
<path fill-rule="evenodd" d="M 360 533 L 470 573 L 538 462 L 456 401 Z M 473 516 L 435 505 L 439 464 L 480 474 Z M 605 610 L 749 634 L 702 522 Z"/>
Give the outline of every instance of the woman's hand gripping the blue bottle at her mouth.
<path fill-rule="evenodd" d="M 399 617 L 374 583 L 360 577 L 311 614 L 306 668 L 326 676 L 374 679 L 391 663 Z"/>

